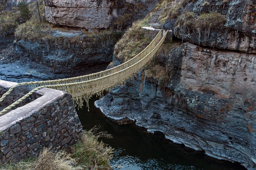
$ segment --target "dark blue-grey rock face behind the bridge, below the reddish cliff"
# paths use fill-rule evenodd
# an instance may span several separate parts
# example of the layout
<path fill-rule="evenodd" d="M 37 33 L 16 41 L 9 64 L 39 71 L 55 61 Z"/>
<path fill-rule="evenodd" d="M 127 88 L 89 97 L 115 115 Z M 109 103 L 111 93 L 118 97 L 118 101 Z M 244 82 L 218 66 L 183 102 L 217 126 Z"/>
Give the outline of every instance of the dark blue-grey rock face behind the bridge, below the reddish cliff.
<path fill-rule="evenodd" d="M 122 33 L 78 34 L 58 31 L 52 33 L 51 39 L 22 39 L 14 44 L 14 52 L 23 55 L 21 62 L 29 60 L 35 67 L 48 68 L 47 72 L 56 75 L 72 77 L 104 70 L 112 61 L 114 45 Z"/>

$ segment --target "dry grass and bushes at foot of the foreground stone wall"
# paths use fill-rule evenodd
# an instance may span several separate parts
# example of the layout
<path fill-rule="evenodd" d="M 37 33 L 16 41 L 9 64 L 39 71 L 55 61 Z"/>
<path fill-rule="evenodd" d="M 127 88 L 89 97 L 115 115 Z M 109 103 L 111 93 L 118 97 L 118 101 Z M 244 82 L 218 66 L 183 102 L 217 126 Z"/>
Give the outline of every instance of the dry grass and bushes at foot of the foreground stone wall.
<path fill-rule="evenodd" d="M 98 128 L 85 131 L 81 140 L 70 147 L 71 153 L 44 148 L 38 158 L 24 159 L 18 163 L 0 164 L 0 170 L 84 170 L 110 169 L 113 149 L 99 142 L 100 137 L 112 137 Z"/>

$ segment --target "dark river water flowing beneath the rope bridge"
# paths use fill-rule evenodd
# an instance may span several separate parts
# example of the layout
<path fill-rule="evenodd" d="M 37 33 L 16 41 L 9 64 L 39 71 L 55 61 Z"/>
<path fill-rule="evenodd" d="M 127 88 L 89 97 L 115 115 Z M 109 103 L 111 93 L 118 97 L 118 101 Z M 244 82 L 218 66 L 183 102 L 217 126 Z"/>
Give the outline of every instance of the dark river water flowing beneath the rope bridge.
<path fill-rule="evenodd" d="M 84 107 L 83 110 L 77 110 L 77 113 L 84 129 L 100 125 L 100 131 L 108 131 L 113 135 L 112 139 L 100 139 L 115 148 L 111 160 L 113 169 L 245 170 L 238 163 L 213 159 L 204 152 L 174 144 L 165 139 L 162 133 L 147 133 L 146 129 L 134 124 L 117 125 L 94 107 L 95 100 L 90 100 L 90 112 Z"/>

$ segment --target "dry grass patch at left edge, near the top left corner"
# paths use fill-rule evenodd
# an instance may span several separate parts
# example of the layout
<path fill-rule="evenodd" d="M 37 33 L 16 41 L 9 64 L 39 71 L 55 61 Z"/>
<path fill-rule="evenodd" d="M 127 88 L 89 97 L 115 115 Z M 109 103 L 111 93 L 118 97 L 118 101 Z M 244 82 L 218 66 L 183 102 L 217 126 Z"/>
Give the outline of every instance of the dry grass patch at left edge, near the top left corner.
<path fill-rule="evenodd" d="M 19 24 L 20 12 L 0 11 L 0 37 L 12 33 Z"/>

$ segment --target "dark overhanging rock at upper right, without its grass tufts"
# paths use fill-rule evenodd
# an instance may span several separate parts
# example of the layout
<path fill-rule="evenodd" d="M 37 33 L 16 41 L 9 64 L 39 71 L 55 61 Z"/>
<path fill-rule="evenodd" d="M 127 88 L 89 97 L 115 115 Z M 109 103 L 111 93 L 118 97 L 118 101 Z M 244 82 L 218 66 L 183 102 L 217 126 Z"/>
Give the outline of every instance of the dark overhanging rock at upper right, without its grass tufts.
<path fill-rule="evenodd" d="M 167 20 L 165 29 L 172 29 L 173 34 L 184 41 L 207 47 L 238 50 L 246 53 L 256 53 L 256 4 L 254 0 L 197 0 L 188 1 L 177 18 Z M 198 31 L 195 28 L 182 27 L 176 21 L 186 11 L 195 14 L 195 18 L 203 13 L 219 12 L 226 17 L 222 26 Z M 200 34 L 200 35 L 199 35 Z"/>

